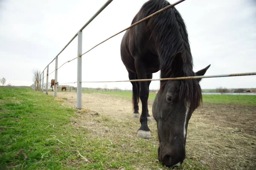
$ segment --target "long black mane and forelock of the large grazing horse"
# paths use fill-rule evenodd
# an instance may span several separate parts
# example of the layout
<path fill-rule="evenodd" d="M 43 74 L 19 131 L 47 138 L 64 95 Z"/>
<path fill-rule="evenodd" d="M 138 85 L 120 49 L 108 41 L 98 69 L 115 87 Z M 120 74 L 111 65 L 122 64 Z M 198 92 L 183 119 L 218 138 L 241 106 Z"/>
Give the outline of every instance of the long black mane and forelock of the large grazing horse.
<path fill-rule="evenodd" d="M 149 0 L 141 8 L 146 16 L 170 5 L 166 0 Z M 186 25 L 175 7 L 163 11 L 148 20 L 147 31 L 154 42 L 155 51 L 159 56 L 160 77 L 187 77 L 194 76 L 193 60 L 190 51 Z M 179 74 L 172 73 L 172 57 L 181 52 L 183 71 Z M 160 91 L 167 81 L 160 82 Z M 177 92 L 180 102 L 190 102 L 192 109 L 197 108 L 202 101 L 201 87 L 197 79 L 179 80 Z"/>

